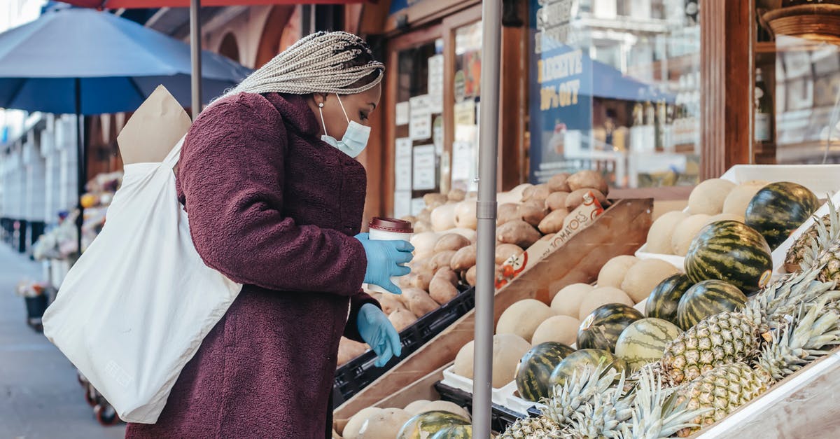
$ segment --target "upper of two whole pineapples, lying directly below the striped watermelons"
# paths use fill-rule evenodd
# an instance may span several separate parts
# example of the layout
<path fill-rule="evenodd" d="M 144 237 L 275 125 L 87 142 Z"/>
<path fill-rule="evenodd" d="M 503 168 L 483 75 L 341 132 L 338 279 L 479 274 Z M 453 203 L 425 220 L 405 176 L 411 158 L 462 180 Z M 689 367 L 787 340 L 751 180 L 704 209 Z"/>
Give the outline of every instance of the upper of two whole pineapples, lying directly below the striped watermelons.
<path fill-rule="evenodd" d="M 759 353 L 761 337 L 785 325 L 785 315 L 801 303 L 830 294 L 833 283 L 815 282 L 819 268 L 783 278 L 756 294 L 738 311 L 711 315 L 665 347 L 660 360 L 668 382 L 678 385 L 722 364 L 743 362 Z"/>

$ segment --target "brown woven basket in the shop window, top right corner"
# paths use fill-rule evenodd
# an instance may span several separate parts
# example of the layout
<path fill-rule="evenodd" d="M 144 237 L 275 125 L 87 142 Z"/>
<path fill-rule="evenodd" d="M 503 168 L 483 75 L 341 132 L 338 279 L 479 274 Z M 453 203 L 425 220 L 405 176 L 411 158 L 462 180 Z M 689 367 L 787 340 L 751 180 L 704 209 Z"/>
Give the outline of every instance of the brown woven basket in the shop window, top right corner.
<path fill-rule="evenodd" d="M 762 20 L 769 25 L 774 34 L 840 45 L 840 1 L 790 3 L 794 4 L 774 9 L 762 16 Z"/>

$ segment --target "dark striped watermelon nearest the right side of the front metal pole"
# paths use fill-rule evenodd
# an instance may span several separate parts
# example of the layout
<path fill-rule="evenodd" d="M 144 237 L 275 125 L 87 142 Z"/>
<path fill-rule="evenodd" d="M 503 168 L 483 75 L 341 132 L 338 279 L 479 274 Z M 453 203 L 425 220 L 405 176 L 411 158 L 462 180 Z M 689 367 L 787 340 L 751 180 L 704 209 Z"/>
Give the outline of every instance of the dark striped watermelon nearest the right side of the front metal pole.
<path fill-rule="evenodd" d="M 574 349 L 555 341 L 546 341 L 533 346 L 522 356 L 517 366 L 517 390 L 519 396 L 529 401 L 539 401 L 551 396 L 549 378 L 554 368 L 570 356 Z"/>

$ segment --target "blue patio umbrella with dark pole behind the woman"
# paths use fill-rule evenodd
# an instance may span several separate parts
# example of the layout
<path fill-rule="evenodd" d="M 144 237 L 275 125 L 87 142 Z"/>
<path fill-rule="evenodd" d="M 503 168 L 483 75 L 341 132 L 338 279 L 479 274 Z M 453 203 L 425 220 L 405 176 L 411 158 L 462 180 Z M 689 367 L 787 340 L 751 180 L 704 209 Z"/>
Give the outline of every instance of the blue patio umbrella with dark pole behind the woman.
<path fill-rule="evenodd" d="M 186 106 L 191 102 L 191 70 L 190 47 L 179 40 L 111 13 L 57 8 L 0 34 L 0 108 L 81 119 L 133 111 L 160 84 Z M 249 72 L 223 56 L 205 53 L 202 102 L 221 95 Z M 81 194 L 86 160 L 81 129 L 77 132 Z M 81 229 L 79 240 L 81 251 Z"/>

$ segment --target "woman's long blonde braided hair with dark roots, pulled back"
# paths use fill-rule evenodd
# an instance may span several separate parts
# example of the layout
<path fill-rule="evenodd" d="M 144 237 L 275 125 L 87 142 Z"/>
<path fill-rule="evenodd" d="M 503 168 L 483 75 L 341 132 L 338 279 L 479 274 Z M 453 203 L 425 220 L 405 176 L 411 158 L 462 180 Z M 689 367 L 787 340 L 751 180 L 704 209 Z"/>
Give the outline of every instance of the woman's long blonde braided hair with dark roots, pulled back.
<path fill-rule="evenodd" d="M 362 93 L 382 82 L 385 65 L 347 32 L 307 35 L 225 93 Z M 362 82 L 370 77 L 370 82 Z"/>

